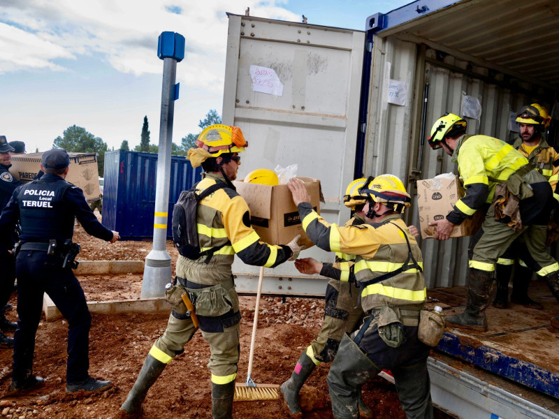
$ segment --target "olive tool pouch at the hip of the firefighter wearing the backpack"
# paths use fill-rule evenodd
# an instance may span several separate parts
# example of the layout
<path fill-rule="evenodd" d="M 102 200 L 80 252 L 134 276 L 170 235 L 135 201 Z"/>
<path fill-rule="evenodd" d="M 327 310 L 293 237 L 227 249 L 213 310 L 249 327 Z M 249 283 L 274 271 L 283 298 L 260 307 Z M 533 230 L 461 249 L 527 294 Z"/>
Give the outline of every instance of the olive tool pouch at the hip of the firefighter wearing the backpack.
<path fill-rule="evenodd" d="M 231 309 L 239 311 L 239 297 L 234 286 L 226 290 L 218 284 L 208 288 L 187 288 L 187 291 L 195 297 L 193 304 L 198 316 L 217 317 Z"/>

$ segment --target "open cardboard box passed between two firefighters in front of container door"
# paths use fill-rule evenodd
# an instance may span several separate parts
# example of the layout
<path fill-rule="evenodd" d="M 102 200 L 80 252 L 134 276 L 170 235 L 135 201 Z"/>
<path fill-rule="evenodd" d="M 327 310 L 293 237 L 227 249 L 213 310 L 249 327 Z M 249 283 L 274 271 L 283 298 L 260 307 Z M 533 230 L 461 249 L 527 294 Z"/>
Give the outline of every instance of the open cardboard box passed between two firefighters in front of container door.
<path fill-rule="evenodd" d="M 320 214 L 322 193 L 320 181 L 312 177 L 297 177 L 305 182 L 305 187 L 311 198 L 312 207 Z M 303 225 L 299 219 L 299 212 L 293 203 L 291 191 L 287 185 L 267 186 L 233 181 L 237 192 L 245 198 L 250 209 L 250 222 L 262 240 L 269 244 L 287 244 L 296 235 L 301 235 L 299 244 L 312 247 Z"/>

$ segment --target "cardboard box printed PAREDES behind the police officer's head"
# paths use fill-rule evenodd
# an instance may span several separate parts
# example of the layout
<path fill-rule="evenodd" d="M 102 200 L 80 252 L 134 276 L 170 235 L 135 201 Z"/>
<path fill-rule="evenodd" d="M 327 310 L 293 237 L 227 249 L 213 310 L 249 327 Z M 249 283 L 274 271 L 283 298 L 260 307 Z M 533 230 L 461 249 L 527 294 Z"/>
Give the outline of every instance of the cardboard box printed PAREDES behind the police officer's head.
<path fill-rule="evenodd" d="M 99 199 L 99 172 L 95 153 L 68 153 L 70 170 L 66 181 L 82 189 L 85 199 Z M 16 179 L 27 183 L 35 179 L 41 170 L 43 153 L 15 154 L 12 156 L 10 173 Z"/>

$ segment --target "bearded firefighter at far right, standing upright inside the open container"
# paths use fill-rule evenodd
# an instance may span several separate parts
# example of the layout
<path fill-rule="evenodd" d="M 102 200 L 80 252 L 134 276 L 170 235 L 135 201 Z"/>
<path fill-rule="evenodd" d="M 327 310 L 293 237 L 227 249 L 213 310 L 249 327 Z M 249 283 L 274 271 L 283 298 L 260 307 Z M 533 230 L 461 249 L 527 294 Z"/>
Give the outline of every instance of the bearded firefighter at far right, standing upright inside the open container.
<path fill-rule="evenodd" d="M 525 156 L 532 166 L 546 179 L 548 179 L 553 198 L 559 202 L 558 180 L 559 180 L 559 153 L 551 147 L 544 138 L 543 132 L 549 126 L 551 117 L 538 103 L 523 106 L 518 111 L 516 122 L 520 126 L 520 137 L 516 138 L 513 147 Z M 556 203 L 557 205 L 557 203 Z M 548 230 L 552 230 L 553 224 L 549 221 Z M 549 237 L 548 237 L 549 239 Z M 549 244 L 549 241 L 548 243 Z M 532 270 L 526 266 L 522 258 L 518 256 L 525 253 L 525 244 L 522 237 L 514 242 L 507 251 L 497 260 L 495 275 L 497 278 L 497 295 L 493 306 L 498 309 L 507 308 L 509 297 L 509 279 L 514 266 L 514 277 L 512 279 L 511 302 L 523 304 L 524 307 L 542 310 L 544 306 L 528 296 L 528 286 L 532 279 Z M 516 260 L 516 264 L 515 264 Z"/>

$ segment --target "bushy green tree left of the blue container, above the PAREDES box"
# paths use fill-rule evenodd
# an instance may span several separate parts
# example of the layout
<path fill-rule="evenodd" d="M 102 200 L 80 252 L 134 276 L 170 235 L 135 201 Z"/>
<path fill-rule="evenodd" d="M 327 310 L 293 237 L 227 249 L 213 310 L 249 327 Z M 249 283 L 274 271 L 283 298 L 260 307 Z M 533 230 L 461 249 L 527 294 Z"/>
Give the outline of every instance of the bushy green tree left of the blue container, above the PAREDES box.
<path fill-rule="evenodd" d="M 64 149 L 67 152 L 77 153 L 97 153 L 97 168 L 99 176 L 103 176 L 105 168 L 105 152 L 108 149 L 107 143 L 92 133 L 87 132 L 81 126 L 69 126 L 64 130 L 62 136 L 55 138 L 52 147 Z"/>

